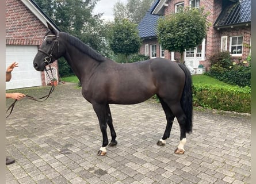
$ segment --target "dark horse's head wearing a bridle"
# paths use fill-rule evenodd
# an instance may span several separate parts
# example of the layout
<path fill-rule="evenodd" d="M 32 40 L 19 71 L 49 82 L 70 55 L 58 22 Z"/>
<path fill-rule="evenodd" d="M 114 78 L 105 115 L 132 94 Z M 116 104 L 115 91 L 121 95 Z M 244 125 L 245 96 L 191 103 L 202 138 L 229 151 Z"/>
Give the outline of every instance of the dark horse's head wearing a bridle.
<path fill-rule="evenodd" d="M 59 45 L 59 31 L 52 28 L 48 22 L 47 25 L 49 31 L 45 34 L 43 44 L 38 50 L 33 61 L 34 68 L 37 71 L 44 71 L 45 66 L 62 56 Z"/>

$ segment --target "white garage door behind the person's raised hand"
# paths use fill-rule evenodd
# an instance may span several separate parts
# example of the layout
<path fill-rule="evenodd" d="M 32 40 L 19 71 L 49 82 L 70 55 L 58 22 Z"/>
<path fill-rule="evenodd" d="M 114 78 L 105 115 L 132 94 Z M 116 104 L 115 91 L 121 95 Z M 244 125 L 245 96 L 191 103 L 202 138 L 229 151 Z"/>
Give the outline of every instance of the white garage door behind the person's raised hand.
<path fill-rule="evenodd" d="M 33 67 L 33 59 L 37 53 L 34 45 L 6 45 L 6 68 L 13 62 L 18 67 L 12 72 L 12 79 L 6 82 L 6 89 L 41 86 L 41 72 Z"/>

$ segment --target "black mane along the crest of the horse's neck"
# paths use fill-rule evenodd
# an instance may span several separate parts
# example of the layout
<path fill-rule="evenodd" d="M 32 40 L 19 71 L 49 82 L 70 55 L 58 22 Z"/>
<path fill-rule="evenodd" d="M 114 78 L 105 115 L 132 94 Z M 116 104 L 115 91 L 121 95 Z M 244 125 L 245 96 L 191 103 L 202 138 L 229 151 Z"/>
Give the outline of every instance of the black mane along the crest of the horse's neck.
<path fill-rule="evenodd" d="M 79 40 L 77 37 L 74 37 L 68 33 L 61 32 L 62 37 L 64 40 L 67 40 L 68 43 L 73 45 L 75 48 L 78 48 L 80 51 L 85 53 L 86 55 L 89 55 L 93 59 L 97 60 L 98 62 L 104 62 L 105 57 L 102 56 L 100 53 L 96 52 L 93 48 L 89 47 L 89 45 L 83 43 L 81 40 Z"/>

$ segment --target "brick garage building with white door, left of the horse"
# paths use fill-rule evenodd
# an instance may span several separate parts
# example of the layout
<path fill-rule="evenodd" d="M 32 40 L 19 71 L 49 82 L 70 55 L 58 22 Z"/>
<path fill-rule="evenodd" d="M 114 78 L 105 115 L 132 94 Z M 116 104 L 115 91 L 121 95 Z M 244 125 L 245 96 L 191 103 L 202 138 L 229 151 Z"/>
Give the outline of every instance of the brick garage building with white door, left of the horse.
<path fill-rule="evenodd" d="M 6 67 L 12 62 L 19 64 L 6 89 L 45 86 L 49 82 L 45 72 L 33 68 L 33 59 L 47 32 L 46 22 L 59 30 L 32 0 L 6 0 Z M 58 79 L 58 63 L 52 67 Z"/>

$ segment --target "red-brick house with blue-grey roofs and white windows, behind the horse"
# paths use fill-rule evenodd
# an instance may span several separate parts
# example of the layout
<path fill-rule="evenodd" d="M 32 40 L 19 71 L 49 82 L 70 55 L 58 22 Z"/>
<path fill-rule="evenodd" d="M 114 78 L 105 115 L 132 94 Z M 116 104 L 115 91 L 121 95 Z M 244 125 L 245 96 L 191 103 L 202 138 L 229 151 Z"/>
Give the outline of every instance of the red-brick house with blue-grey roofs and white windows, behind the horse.
<path fill-rule="evenodd" d="M 235 61 L 247 58 L 250 48 L 246 45 L 251 41 L 251 0 L 156 0 L 138 25 L 143 40 L 140 53 L 151 58 L 180 60 L 178 52 L 170 53 L 161 48 L 156 37 L 156 24 L 161 16 L 175 13 L 184 6 L 203 6 L 210 13 L 211 27 L 207 36 L 196 48 L 184 53 L 185 62 L 193 61 L 195 71 L 200 64 L 209 69 L 209 57 L 219 51 L 230 51 Z"/>

